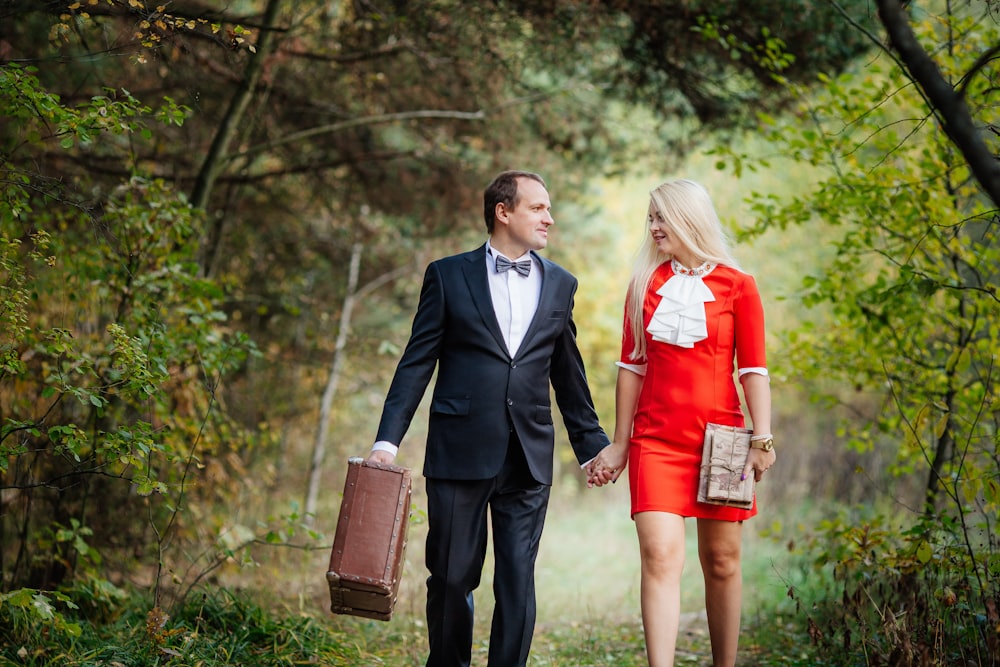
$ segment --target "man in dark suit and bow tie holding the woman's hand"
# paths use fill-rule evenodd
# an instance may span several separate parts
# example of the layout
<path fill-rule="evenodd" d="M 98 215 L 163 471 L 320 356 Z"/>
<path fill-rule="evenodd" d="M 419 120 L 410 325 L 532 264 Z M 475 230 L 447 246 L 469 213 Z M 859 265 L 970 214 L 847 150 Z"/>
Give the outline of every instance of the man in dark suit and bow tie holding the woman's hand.
<path fill-rule="evenodd" d="M 427 667 L 470 664 L 487 512 L 496 598 L 488 664 L 527 662 L 552 484 L 550 385 L 581 465 L 608 444 L 576 344 L 576 278 L 535 252 L 554 223 L 545 183 L 530 172 L 503 172 L 483 204 L 489 240 L 427 267 L 369 456 L 394 460 L 437 367 L 423 469 Z"/>

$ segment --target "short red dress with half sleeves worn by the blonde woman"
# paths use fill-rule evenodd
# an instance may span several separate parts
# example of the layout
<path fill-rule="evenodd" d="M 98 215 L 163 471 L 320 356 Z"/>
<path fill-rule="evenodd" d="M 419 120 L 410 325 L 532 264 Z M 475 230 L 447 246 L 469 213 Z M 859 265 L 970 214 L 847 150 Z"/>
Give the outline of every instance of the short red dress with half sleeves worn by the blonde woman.
<path fill-rule="evenodd" d="M 644 303 L 646 327 L 664 300 L 661 288 L 675 275 L 669 261 L 654 273 Z M 707 337 L 687 343 L 690 347 L 662 342 L 647 328 L 646 358 L 631 359 L 632 329 L 625 316 L 621 365 L 645 364 L 629 447 L 632 516 L 657 511 L 742 521 L 757 514 L 756 500 L 749 510 L 699 503 L 698 473 L 705 424 L 744 426 L 734 361 L 743 369 L 766 368 L 764 312 L 749 274 L 716 265 L 697 277 L 714 300 L 704 303 Z"/>

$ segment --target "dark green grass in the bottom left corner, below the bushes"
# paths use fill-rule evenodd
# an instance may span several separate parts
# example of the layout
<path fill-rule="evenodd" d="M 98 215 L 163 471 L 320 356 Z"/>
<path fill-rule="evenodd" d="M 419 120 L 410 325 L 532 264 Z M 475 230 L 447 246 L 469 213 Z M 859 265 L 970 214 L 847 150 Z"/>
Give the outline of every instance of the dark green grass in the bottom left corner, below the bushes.
<path fill-rule="evenodd" d="M 76 616 L 72 599 L 88 598 L 79 589 L 54 596 L 22 590 L 0 597 L 0 662 L 50 664 L 204 664 L 325 665 L 381 664 L 364 648 L 351 624 L 330 627 L 315 618 L 272 614 L 253 600 L 222 590 L 201 594 L 174 615 L 148 607 L 150 599 L 133 591 L 120 596 L 118 616 L 105 626 Z M 25 622 L 25 609 L 41 618 Z M 150 609 L 148 612 L 146 609 Z M 8 623 L 9 622 L 9 623 Z M 39 628 L 48 631 L 39 632 Z"/>

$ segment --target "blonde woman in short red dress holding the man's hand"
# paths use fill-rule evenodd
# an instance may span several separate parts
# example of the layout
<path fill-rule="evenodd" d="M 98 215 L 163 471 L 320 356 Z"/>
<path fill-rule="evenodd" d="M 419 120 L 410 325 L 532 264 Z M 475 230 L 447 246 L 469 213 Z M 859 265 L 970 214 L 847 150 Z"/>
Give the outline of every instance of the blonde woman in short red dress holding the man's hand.
<path fill-rule="evenodd" d="M 647 224 L 626 297 L 614 441 L 588 465 L 589 481 L 616 480 L 627 460 L 649 665 L 674 664 L 684 519 L 694 517 L 712 660 L 731 666 L 740 631 L 743 521 L 757 506 L 699 503 L 698 474 L 705 425 L 744 426 L 734 360 L 754 432 L 743 474 L 760 481 L 774 464 L 763 309 L 702 186 L 674 180 L 657 187 Z"/>

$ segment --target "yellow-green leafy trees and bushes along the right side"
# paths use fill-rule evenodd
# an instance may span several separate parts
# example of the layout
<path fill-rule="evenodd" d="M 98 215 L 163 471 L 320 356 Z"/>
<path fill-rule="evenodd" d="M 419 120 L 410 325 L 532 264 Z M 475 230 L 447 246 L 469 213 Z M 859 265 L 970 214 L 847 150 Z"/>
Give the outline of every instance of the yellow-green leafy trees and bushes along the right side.
<path fill-rule="evenodd" d="M 968 16 L 918 29 L 937 44 L 941 25 L 952 29 L 950 48 L 935 52 L 947 72 L 1000 40 L 994 22 Z M 818 402 L 866 415 L 843 425 L 843 445 L 888 459 L 882 488 L 897 509 L 828 521 L 803 546 L 840 588 L 816 603 L 817 641 L 876 664 L 996 664 L 1000 225 L 924 100 L 885 60 L 824 77 L 788 117 L 761 117 L 788 162 L 728 148 L 719 157 L 736 169 L 820 170 L 803 195 L 752 197 L 750 233 L 838 230 L 830 260 L 802 282 L 815 321 L 784 345 Z M 989 81 L 966 85 L 982 105 L 974 114 L 989 117 Z"/>

